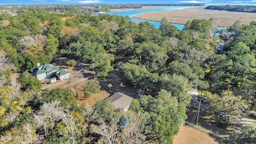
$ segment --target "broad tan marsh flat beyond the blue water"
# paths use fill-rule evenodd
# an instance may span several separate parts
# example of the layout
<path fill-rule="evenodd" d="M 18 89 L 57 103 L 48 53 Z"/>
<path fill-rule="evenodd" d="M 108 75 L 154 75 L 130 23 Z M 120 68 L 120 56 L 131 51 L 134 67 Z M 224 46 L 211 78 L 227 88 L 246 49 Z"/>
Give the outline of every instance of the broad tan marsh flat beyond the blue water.
<path fill-rule="evenodd" d="M 174 24 L 186 24 L 189 20 L 206 19 L 215 20 L 216 26 L 229 27 L 237 20 L 241 24 L 249 25 L 251 21 L 256 21 L 255 13 L 248 12 L 229 12 L 226 10 L 207 10 L 205 6 L 185 8 L 180 10 L 168 10 L 161 12 L 147 12 L 143 14 L 134 15 L 134 18 L 142 20 L 151 20 L 160 22 L 162 18 L 166 17 L 167 21 Z"/>

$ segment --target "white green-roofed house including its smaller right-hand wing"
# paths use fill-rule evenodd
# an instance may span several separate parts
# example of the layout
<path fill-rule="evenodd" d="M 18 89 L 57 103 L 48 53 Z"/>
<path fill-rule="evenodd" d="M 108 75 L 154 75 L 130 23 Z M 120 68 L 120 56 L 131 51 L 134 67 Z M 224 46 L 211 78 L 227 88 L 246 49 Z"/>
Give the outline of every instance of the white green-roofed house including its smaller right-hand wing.
<path fill-rule="evenodd" d="M 41 64 L 38 63 L 36 68 L 30 69 L 33 76 L 36 76 L 38 80 L 44 80 L 51 78 L 51 82 L 55 82 L 54 77 L 58 80 L 64 80 L 70 77 L 70 73 L 66 69 L 60 69 L 52 64 Z"/>

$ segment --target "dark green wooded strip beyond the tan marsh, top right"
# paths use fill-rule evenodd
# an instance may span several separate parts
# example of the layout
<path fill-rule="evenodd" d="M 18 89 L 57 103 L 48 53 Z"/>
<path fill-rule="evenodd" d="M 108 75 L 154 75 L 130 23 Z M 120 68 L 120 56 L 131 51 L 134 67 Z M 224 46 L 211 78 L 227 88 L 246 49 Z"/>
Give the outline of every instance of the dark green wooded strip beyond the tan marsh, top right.
<path fill-rule="evenodd" d="M 252 12 L 252 13 L 256 13 L 256 6 L 244 6 L 244 5 L 207 6 L 205 9 L 209 9 L 209 10 L 227 10 L 227 11 L 230 11 L 230 12 Z"/>

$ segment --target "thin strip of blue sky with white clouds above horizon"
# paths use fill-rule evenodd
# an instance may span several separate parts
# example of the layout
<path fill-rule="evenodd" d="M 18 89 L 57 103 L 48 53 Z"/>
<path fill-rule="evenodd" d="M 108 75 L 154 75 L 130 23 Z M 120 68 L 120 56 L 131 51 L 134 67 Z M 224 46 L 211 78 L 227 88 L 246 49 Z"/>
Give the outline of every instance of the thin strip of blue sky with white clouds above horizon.
<path fill-rule="evenodd" d="M 223 0 L 0 0 L 0 4 L 156 4 L 221 3 Z M 226 0 L 225 3 L 256 3 L 256 0 Z"/>

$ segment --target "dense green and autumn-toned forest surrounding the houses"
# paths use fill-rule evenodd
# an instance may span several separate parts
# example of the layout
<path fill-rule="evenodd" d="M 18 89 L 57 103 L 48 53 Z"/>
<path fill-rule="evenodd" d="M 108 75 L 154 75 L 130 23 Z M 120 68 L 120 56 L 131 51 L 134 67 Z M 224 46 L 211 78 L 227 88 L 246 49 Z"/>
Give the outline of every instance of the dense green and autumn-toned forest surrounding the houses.
<path fill-rule="evenodd" d="M 0 132 L 24 136 L 1 137 L 0 143 L 171 144 L 187 118 L 187 92 L 193 89 L 206 96 L 216 124 L 224 128 L 236 122 L 242 108 L 256 110 L 256 21 L 218 30 L 213 19 L 194 19 L 180 31 L 166 18 L 157 29 L 129 16 L 46 9 L 0 13 Z M 236 37 L 221 53 L 218 42 L 224 43 L 225 32 Z M 127 112 L 116 112 L 105 100 L 78 106 L 78 90 L 41 91 L 28 70 L 51 63 L 57 53 L 94 63 L 97 78 L 119 69 L 122 82 L 146 96 L 133 100 Z M 19 78 L 10 77 L 15 72 Z M 79 92 L 89 87 L 100 88 L 91 80 Z M 255 127 L 244 126 L 230 142 L 255 142 L 251 132 Z"/>

